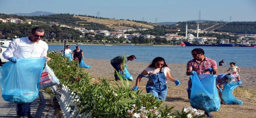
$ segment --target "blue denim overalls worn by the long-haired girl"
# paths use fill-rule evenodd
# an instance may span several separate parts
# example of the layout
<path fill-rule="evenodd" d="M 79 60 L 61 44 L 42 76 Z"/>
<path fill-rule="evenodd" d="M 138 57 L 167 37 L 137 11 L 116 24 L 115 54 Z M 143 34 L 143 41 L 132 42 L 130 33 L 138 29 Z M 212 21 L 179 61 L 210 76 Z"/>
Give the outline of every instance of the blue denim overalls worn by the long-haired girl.
<path fill-rule="evenodd" d="M 164 75 L 164 67 L 162 72 L 157 72 L 157 74 L 151 75 L 149 81 L 146 85 L 147 93 L 151 92 L 152 96 L 159 97 L 157 100 L 165 99 L 167 95 L 167 85 L 165 83 L 166 77 Z"/>

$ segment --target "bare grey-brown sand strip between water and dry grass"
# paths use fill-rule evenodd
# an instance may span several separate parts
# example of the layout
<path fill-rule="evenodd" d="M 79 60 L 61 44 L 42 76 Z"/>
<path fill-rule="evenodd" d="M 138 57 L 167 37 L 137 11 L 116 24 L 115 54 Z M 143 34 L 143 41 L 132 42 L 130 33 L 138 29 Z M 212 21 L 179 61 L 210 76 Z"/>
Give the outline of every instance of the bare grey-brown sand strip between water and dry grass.
<path fill-rule="evenodd" d="M 110 64 L 110 60 L 99 60 L 99 59 L 90 59 L 86 58 L 85 63 L 91 65 L 91 69 L 86 69 L 92 77 L 94 78 L 108 78 L 108 80 L 114 80 L 114 69 Z M 136 80 L 137 76 L 150 64 L 149 62 L 135 62 L 128 61 L 127 69 L 132 75 L 133 79 Z M 180 80 L 181 85 L 186 86 L 188 83 L 189 76 L 186 75 L 186 64 L 167 64 L 170 68 L 170 73 L 172 77 Z M 227 71 L 229 66 L 218 66 L 218 73 L 222 74 L 224 71 Z M 239 73 L 241 80 L 243 82 L 239 87 L 243 88 L 256 88 L 256 77 L 253 75 L 256 72 L 256 68 L 251 67 L 240 67 L 241 71 Z M 143 78 L 141 83 L 146 83 L 147 78 Z M 174 83 L 170 83 L 173 84 Z M 131 82 L 131 85 L 133 82 Z"/>

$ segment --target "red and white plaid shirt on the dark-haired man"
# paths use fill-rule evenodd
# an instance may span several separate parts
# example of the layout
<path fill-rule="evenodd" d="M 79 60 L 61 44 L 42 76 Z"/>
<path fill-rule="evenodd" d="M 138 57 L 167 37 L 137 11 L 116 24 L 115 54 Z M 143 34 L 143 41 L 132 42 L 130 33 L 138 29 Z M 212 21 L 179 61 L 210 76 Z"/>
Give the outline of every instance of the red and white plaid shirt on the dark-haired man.
<path fill-rule="evenodd" d="M 207 57 L 204 58 L 204 60 L 201 62 L 201 64 L 196 60 L 193 59 L 191 61 L 188 61 L 187 69 L 192 67 L 192 70 L 196 72 L 196 74 L 211 74 L 211 72 L 208 70 L 209 68 L 217 69 L 217 63 L 213 59 L 209 59 Z M 188 83 L 192 84 L 191 78 L 188 80 Z"/>

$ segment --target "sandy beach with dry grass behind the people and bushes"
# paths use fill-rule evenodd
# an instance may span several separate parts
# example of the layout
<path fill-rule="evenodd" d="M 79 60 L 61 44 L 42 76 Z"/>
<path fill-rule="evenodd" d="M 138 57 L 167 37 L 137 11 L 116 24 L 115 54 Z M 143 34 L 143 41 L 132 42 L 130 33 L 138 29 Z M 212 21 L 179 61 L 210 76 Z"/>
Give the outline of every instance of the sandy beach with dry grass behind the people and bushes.
<path fill-rule="evenodd" d="M 85 63 L 91 65 L 91 69 L 85 69 L 92 77 L 98 81 L 98 78 L 107 78 L 107 80 L 115 85 L 114 81 L 114 69 L 110 64 L 110 60 L 98 60 L 86 58 Z M 136 78 L 150 63 L 128 61 L 127 69 L 131 73 L 134 81 L 130 81 L 130 87 L 135 85 Z M 168 93 L 163 106 L 175 106 L 173 110 L 182 110 L 183 108 L 190 106 L 190 100 L 186 92 L 189 76 L 185 74 L 186 64 L 167 64 L 170 68 L 172 77 L 180 80 L 181 85 L 175 86 L 172 81 L 167 83 Z M 224 73 L 229 66 L 218 67 L 218 73 Z M 240 67 L 241 80 L 243 82 L 239 87 L 241 89 L 235 94 L 237 99 L 243 100 L 243 105 L 221 105 L 218 112 L 212 112 L 214 118 L 255 118 L 256 117 L 256 77 L 253 73 L 256 72 L 256 68 Z M 139 84 L 139 90 L 146 92 L 147 78 L 142 78 Z M 117 82 L 117 84 L 121 84 Z M 176 112 L 176 111 L 173 111 Z M 203 112 L 203 111 L 202 111 Z"/>

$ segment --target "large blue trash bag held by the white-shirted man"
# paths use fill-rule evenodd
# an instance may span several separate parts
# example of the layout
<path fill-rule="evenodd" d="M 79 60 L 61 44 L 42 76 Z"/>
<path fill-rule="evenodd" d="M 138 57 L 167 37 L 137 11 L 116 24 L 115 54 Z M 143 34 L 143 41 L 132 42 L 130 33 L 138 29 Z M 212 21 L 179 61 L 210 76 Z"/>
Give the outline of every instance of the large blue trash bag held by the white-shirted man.
<path fill-rule="evenodd" d="M 3 100 L 18 104 L 31 103 L 39 93 L 39 80 L 47 58 L 17 59 L 0 67 Z"/>

